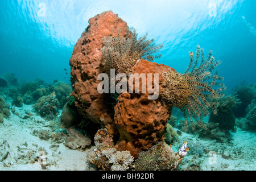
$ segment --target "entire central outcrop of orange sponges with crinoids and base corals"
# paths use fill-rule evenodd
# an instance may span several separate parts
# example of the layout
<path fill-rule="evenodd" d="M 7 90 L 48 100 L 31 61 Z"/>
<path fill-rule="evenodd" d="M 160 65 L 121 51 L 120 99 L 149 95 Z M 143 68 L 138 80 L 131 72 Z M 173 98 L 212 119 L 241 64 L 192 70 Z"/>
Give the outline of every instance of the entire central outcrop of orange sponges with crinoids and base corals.
<path fill-rule="evenodd" d="M 146 38 L 147 35 L 137 39 L 135 30 L 130 30 L 126 22 L 112 11 L 106 11 L 89 20 L 89 26 L 73 49 L 69 64 L 74 90 L 69 96 L 72 104 L 67 105 L 75 105 L 83 115 L 80 126 L 94 122 L 106 127 L 106 130 L 98 130 L 94 136 L 96 148 L 90 154 L 90 162 L 98 169 L 131 169 L 131 161 L 129 165 L 122 166 L 125 163 L 119 158 L 111 158 L 122 152 L 138 158 L 135 162 L 137 169 L 177 169 L 188 148 L 187 142 L 184 142 L 175 154 L 163 142 L 165 138 L 168 143 L 174 142 L 177 136 L 171 125 L 167 126 L 172 107 L 183 111 L 185 130 L 188 117 L 192 129 L 197 127 L 193 125 L 192 118 L 205 129 L 203 117 L 209 114 L 208 109 L 212 107 L 213 112 L 217 112 L 216 99 L 222 96 L 225 87 L 218 82 L 223 80 L 218 76 L 218 71 L 211 75 L 220 64 L 220 61 L 214 61 L 212 51 L 205 59 L 204 49 L 197 46 L 195 60 L 193 52 L 189 52 L 189 66 L 181 75 L 167 65 L 151 62 L 160 56 L 154 56 L 154 53 L 162 45 L 155 46 L 153 39 Z M 146 80 L 138 79 L 139 88 L 135 84 L 136 78 L 127 81 L 126 89 L 135 90 L 135 93 L 100 94 L 97 92 L 100 84 L 97 76 L 109 73 L 111 68 L 115 69 L 115 73 L 144 73 Z M 152 74 L 152 80 L 149 80 L 148 73 Z M 157 82 L 154 73 L 159 76 Z M 147 85 L 146 92 L 142 90 L 143 81 Z M 214 86 L 220 88 L 213 89 Z M 153 89 L 158 89 L 159 97 L 149 100 Z M 149 156 L 151 154 L 154 155 Z"/>

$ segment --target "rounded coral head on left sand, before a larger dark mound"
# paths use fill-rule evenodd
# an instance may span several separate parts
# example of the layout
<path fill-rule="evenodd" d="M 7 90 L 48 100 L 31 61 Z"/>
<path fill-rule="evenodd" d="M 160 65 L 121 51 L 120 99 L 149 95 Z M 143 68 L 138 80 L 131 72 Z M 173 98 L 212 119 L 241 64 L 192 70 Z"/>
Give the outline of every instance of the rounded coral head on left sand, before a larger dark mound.
<path fill-rule="evenodd" d="M 33 107 L 42 117 L 53 119 L 58 114 L 59 101 L 53 92 L 49 96 L 40 97 Z"/>

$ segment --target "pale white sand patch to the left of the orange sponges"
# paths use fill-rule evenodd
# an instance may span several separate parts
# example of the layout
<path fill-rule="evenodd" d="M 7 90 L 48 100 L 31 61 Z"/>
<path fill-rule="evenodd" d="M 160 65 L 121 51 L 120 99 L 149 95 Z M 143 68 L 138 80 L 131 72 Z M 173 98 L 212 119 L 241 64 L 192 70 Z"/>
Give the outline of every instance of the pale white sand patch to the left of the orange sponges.
<path fill-rule="evenodd" d="M 22 108 L 15 107 L 19 113 L 19 117 L 11 113 L 10 118 L 4 119 L 3 124 L 0 124 L 0 142 L 6 140 L 10 146 L 11 156 L 0 162 L 0 170 L 43 170 L 37 159 L 34 163 L 27 163 L 29 159 L 27 156 L 28 151 L 34 151 L 39 156 L 39 147 L 43 147 L 46 152 L 46 165 L 47 170 L 92 170 L 86 162 L 86 152 L 79 150 L 71 150 L 60 143 L 59 147 L 54 148 L 50 146 L 56 144 L 52 139 L 42 140 L 39 137 L 32 135 L 32 131 L 40 129 L 49 129 L 49 121 L 45 121 L 40 116 L 32 111 L 31 105 L 24 105 Z M 25 112 L 34 114 L 31 118 L 22 119 Z M 27 146 L 24 146 L 24 143 Z M 20 149 L 19 149 L 19 148 Z M 25 159 L 20 158 L 24 155 Z M 20 158 L 20 159 L 19 159 Z M 17 159 L 17 161 L 15 160 Z M 13 164 L 10 164 L 13 162 Z M 8 167 L 6 167 L 8 166 Z"/>

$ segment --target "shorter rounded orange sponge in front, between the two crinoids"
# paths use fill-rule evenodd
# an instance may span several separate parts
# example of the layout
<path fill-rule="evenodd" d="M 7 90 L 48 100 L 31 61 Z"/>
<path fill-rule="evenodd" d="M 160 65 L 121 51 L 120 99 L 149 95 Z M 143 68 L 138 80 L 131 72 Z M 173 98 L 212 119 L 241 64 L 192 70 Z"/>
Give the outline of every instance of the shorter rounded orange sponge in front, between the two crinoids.
<path fill-rule="evenodd" d="M 146 60 L 138 60 L 131 68 L 133 73 L 139 75 L 145 73 L 147 79 L 148 73 L 153 75 L 159 73 L 159 94 L 162 92 L 163 73 L 169 69 L 172 68 Z M 142 85 L 142 80 L 139 81 L 139 85 Z M 152 78 L 152 85 L 154 85 L 154 78 Z M 148 90 L 146 93 L 142 93 L 141 88 L 140 86 L 139 93 L 122 93 L 119 95 L 114 117 L 115 126 L 120 134 L 115 148 L 120 151 L 129 150 L 135 158 L 138 157 L 141 149 L 150 148 L 164 140 L 164 128 L 172 109 L 163 105 L 160 102 L 160 97 L 156 100 L 148 100 Z"/>

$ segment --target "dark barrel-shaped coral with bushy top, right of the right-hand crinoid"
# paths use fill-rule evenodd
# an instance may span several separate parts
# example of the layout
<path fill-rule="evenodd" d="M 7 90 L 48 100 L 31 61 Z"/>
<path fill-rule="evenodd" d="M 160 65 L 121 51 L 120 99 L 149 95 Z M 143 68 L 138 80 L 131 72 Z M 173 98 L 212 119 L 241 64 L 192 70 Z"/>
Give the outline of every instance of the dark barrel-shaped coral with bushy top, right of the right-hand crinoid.
<path fill-rule="evenodd" d="M 219 123 L 218 127 L 221 130 L 232 130 L 236 123 L 236 118 L 232 111 L 232 107 L 236 104 L 240 104 L 238 99 L 233 96 L 226 96 L 218 99 L 217 113 L 210 114 L 209 122 Z"/>

